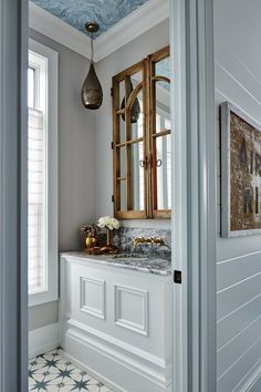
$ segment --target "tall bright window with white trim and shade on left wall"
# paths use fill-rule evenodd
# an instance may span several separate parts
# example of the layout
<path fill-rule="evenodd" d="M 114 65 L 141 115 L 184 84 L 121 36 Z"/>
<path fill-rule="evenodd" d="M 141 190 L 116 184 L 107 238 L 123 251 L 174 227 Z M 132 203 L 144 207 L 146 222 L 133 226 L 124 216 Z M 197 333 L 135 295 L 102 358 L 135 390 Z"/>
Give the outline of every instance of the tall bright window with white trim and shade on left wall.
<path fill-rule="evenodd" d="M 28 278 L 31 306 L 58 298 L 58 53 L 30 40 Z"/>

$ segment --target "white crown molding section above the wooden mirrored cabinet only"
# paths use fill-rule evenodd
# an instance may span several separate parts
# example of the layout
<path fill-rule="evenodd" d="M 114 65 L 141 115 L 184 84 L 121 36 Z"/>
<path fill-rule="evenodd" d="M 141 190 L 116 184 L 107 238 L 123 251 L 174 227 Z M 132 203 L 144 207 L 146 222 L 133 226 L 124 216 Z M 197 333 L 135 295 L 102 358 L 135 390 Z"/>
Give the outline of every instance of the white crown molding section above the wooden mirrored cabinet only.
<path fill-rule="evenodd" d="M 169 18 L 169 0 L 149 0 L 95 40 L 100 61 Z"/>

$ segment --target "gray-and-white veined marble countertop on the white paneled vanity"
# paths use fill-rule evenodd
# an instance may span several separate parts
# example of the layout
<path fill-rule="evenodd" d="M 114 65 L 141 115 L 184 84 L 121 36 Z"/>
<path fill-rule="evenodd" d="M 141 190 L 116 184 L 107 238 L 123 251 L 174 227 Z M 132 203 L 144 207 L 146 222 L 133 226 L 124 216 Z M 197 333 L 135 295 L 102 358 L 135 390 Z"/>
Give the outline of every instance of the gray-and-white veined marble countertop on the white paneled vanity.
<path fill-rule="evenodd" d="M 66 251 L 62 257 L 77 257 L 86 261 L 97 262 L 111 267 L 132 269 L 142 272 L 148 272 L 160 276 L 171 274 L 171 262 L 160 257 L 147 257 L 146 255 L 87 255 L 84 251 Z"/>

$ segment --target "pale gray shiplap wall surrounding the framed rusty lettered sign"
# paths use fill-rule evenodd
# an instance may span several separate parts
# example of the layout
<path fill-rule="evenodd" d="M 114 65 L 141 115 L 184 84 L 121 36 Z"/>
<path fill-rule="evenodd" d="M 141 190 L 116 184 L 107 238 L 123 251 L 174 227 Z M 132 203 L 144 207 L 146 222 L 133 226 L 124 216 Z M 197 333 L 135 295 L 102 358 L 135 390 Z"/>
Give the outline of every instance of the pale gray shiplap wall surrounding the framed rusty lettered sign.
<path fill-rule="evenodd" d="M 215 1 L 218 156 L 221 102 L 261 123 L 260 14 L 259 1 Z M 219 164 L 218 199 L 219 218 Z M 222 239 L 219 225 L 217 260 L 217 391 L 244 391 L 243 383 L 261 370 L 261 236 Z"/>

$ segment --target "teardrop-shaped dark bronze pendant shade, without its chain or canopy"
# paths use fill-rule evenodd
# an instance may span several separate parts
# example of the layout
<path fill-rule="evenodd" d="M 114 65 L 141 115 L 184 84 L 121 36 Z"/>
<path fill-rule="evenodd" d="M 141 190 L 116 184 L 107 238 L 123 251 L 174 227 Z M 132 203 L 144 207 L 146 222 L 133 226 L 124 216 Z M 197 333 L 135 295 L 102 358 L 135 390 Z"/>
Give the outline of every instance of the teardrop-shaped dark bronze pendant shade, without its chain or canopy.
<path fill-rule="evenodd" d="M 86 109 L 96 110 L 103 103 L 103 90 L 97 79 L 93 62 L 82 87 L 82 103 Z"/>

